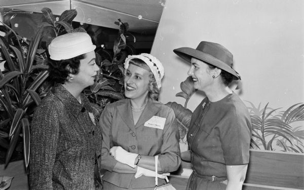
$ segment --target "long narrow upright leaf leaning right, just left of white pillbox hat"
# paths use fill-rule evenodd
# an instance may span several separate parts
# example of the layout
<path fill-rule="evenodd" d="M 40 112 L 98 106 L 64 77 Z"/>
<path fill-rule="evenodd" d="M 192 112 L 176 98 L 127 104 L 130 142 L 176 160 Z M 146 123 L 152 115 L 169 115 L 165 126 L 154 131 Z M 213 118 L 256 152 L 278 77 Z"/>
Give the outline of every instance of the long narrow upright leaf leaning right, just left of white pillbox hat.
<path fill-rule="evenodd" d="M 25 73 L 29 73 L 31 66 L 33 65 L 33 61 L 35 58 L 36 50 L 37 50 L 42 32 L 43 32 L 43 27 L 39 28 L 34 39 L 30 42 L 29 49 L 27 52 L 27 58 L 26 58 Z"/>

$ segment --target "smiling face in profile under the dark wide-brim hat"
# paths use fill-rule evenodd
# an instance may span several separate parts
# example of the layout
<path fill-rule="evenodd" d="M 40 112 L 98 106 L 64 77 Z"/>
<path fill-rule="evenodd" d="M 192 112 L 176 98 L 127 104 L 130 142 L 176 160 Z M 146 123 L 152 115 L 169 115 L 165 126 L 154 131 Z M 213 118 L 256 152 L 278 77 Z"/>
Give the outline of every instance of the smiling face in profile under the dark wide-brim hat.
<path fill-rule="evenodd" d="M 196 58 L 191 59 L 191 67 L 187 74 L 192 76 L 194 88 L 198 90 L 207 90 L 213 82 L 209 66 Z"/>

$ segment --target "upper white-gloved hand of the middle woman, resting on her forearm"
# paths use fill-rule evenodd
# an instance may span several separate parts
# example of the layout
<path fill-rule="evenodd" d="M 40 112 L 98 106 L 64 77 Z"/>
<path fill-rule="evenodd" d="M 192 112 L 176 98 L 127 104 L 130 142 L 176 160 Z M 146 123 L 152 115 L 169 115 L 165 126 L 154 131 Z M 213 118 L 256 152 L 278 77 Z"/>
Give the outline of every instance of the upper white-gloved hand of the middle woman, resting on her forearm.
<path fill-rule="evenodd" d="M 123 164 L 127 164 L 132 168 L 135 168 L 136 165 L 134 164 L 134 162 L 138 154 L 129 153 L 121 147 L 112 147 L 110 149 L 110 153 L 115 158 L 115 160 Z"/>

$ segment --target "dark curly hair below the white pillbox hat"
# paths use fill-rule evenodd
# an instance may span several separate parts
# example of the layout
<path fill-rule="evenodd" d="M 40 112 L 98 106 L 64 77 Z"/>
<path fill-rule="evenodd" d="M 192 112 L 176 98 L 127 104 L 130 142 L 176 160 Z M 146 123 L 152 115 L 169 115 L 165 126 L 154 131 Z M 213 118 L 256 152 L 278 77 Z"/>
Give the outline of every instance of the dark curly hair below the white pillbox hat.
<path fill-rule="evenodd" d="M 64 84 L 68 81 L 69 74 L 77 74 L 79 72 L 80 60 L 85 59 L 85 54 L 70 58 L 67 60 L 49 62 L 49 73 L 51 81 Z"/>

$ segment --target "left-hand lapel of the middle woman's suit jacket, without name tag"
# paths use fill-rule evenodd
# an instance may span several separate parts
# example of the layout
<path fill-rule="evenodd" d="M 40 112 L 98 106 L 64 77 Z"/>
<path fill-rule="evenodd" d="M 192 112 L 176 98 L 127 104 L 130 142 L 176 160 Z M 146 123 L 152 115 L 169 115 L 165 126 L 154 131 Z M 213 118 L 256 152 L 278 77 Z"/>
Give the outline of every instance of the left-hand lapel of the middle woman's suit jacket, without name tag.
<path fill-rule="evenodd" d="M 135 126 L 133 122 L 133 116 L 131 112 L 131 103 L 130 100 L 128 99 L 126 101 L 126 104 L 122 104 L 117 106 L 118 112 L 121 115 L 122 119 L 126 123 L 126 125 L 133 131 L 135 132 Z"/>

